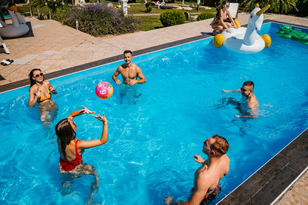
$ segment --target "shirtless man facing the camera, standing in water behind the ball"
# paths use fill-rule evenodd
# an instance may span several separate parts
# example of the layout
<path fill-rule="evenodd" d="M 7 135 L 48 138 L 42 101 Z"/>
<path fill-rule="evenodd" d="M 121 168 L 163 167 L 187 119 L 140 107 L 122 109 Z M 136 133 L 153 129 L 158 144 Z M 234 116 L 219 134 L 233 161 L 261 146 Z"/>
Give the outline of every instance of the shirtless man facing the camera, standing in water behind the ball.
<path fill-rule="evenodd" d="M 120 65 L 117 70 L 113 73 L 112 79 L 117 83 L 121 84 L 121 80 L 117 79 L 117 76 L 121 73 L 123 78 L 123 83 L 126 85 L 134 85 L 136 83 L 145 83 L 145 77 L 142 74 L 141 69 L 131 62 L 132 60 L 132 52 L 129 50 L 124 51 L 124 60 L 125 63 Z M 137 80 L 137 77 L 140 80 Z"/>

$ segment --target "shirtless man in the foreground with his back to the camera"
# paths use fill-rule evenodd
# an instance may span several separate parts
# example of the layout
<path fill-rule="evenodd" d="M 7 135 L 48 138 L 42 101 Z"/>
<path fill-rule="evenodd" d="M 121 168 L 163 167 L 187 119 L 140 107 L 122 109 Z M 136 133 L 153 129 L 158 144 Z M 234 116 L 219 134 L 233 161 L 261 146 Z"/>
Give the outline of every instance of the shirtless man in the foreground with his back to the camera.
<path fill-rule="evenodd" d="M 229 144 L 223 137 L 214 135 L 203 142 L 203 153 L 208 159 L 203 160 L 200 155 L 194 155 L 194 160 L 201 163 L 195 172 L 194 187 L 190 190 L 189 201 L 174 201 L 171 196 L 166 198 L 166 204 L 203 205 L 213 200 L 220 191 L 219 180 L 229 171 L 230 160 L 225 154 Z"/>

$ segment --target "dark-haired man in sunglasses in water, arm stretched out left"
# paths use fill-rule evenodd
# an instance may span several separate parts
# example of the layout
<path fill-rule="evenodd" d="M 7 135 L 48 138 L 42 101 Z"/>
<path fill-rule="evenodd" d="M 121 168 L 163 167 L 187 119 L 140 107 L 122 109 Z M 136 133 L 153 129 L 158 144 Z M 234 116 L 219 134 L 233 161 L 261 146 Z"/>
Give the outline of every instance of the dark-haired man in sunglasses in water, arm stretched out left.
<path fill-rule="evenodd" d="M 253 81 L 246 81 L 243 83 L 243 86 L 240 89 L 236 90 L 224 90 L 222 92 L 241 92 L 242 93 L 242 100 L 239 103 L 240 112 L 243 115 L 235 115 L 237 118 L 257 118 L 258 108 L 259 108 L 259 101 L 256 95 L 253 93 L 255 88 Z"/>

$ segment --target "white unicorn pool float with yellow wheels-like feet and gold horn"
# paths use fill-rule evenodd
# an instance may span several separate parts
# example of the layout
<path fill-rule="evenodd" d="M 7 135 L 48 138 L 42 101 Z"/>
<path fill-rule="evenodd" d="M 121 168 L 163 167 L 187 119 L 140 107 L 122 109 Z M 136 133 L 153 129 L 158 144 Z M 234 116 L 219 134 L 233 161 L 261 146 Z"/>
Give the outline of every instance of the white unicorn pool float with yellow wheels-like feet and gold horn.
<path fill-rule="evenodd" d="M 263 23 L 263 13 L 268 8 L 270 5 L 260 9 L 256 4 L 256 8 L 250 13 L 247 28 L 230 28 L 230 33 L 223 30 L 213 38 L 213 45 L 216 48 L 224 45 L 227 49 L 238 53 L 257 53 L 268 48 L 271 45 L 271 37 L 267 34 L 259 36 L 257 33 Z"/>

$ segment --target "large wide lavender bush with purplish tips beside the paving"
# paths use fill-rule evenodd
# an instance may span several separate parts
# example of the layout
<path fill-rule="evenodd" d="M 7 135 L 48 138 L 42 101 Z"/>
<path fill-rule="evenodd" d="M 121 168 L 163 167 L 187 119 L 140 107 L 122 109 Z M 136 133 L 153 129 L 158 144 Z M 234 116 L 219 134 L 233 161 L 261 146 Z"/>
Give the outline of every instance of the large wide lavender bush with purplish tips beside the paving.
<path fill-rule="evenodd" d="M 104 4 L 74 7 L 66 15 L 62 20 L 63 24 L 75 28 L 75 22 L 78 20 L 79 30 L 93 36 L 134 32 L 140 22 L 132 16 L 124 17 L 120 11 Z"/>

